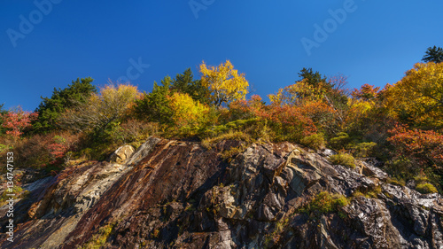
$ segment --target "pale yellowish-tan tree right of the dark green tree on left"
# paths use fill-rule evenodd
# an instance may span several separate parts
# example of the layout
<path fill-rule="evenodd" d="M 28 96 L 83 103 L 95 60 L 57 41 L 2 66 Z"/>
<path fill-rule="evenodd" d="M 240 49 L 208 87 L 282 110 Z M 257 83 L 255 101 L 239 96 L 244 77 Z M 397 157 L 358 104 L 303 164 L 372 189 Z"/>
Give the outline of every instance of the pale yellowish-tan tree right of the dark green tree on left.
<path fill-rule="evenodd" d="M 66 128 L 75 130 L 95 129 L 103 131 L 112 127 L 128 114 L 139 92 L 128 84 L 106 85 L 100 92 L 89 97 L 88 102 L 79 104 L 63 114 L 60 121 Z"/>

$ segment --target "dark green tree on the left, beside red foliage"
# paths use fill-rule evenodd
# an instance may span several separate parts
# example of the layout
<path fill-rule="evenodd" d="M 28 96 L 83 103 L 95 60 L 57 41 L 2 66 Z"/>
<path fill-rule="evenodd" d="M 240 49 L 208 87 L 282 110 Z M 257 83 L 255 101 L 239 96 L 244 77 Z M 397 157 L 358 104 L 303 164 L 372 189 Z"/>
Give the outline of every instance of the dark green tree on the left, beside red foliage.
<path fill-rule="evenodd" d="M 58 128 L 58 118 L 67 108 L 81 105 L 88 100 L 97 88 L 91 84 L 92 78 L 77 79 L 65 89 L 54 89 L 51 97 L 42 97 L 43 101 L 35 110 L 39 113 L 33 122 L 34 133 L 47 133 Z"/>

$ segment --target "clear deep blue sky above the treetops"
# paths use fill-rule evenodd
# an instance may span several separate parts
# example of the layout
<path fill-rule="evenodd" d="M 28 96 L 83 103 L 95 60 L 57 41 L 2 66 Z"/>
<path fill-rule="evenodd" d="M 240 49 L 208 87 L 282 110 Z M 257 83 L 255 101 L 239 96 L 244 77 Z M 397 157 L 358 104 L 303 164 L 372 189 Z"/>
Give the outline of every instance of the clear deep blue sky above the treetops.
<path fill-rule="evenodd" d="M 266 99 L 303 67 L 350 88 L 398 82 L 443 47 L 443 1 L 0 2 L 0 104 L 33 111 L 77 78 L 154 81 L 229 59 Z"/>

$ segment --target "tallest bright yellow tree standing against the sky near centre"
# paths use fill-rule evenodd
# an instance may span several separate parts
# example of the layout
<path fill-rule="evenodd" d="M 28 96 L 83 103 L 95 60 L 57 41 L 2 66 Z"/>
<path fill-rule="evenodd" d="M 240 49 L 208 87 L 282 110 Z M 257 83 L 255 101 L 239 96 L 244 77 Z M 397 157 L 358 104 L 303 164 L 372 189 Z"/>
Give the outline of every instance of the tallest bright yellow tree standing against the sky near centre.
<path fill-rule="evenodd" d="M 245 74 L 238 74 L 234 66 L 227 60 L 219 66 L 200 65 L 201 81 L 211 91 L 214 105 L 221 106 L 233 100 L 245 99 L 249 83 Z"/>

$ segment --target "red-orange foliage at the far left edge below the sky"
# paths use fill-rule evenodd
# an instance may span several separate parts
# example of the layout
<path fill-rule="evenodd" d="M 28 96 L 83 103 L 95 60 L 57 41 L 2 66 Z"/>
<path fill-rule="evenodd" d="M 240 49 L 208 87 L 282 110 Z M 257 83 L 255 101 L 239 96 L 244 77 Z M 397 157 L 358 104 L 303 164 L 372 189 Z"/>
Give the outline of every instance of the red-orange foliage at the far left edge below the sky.
<path fill-rule="evenodd" d="M 31 127 L 31 122 L 35 121 L 37 116 L 37 113 L 25 112 L 19 107 L 2 115 L 2 127 L 6 128 L 6 134 L 19 138 L 26 128 Z"/>

